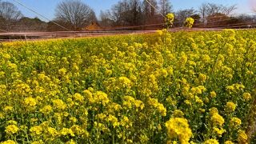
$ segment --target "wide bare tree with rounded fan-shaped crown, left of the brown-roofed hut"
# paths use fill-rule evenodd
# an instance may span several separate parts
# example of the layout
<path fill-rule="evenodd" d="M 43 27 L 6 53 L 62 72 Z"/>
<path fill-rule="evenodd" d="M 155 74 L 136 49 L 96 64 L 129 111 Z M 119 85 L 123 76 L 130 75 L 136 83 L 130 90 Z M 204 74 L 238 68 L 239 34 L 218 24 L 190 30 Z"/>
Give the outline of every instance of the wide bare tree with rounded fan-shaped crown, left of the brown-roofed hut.
<path fill-rule="evenodd" d="M 81 30 L 90 22 L 96 21 L 94 10 L 80 0 L 60 2 L 55 10 L 58 21 L 66 22 L 73 30 Z"/>

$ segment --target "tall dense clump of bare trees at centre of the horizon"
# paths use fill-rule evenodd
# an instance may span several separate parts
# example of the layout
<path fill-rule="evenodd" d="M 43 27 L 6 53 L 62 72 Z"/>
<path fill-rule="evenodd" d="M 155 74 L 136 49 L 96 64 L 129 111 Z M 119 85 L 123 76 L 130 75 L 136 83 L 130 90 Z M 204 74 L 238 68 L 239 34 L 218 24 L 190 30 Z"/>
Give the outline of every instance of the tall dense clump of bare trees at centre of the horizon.
<path fill-rule="evenodd" d="M 169 0 L 122 0 L 110 10 L 101 11 L 101 26 L 142 26 L 164 22 L 166 14 L 173 12 Z"/>

